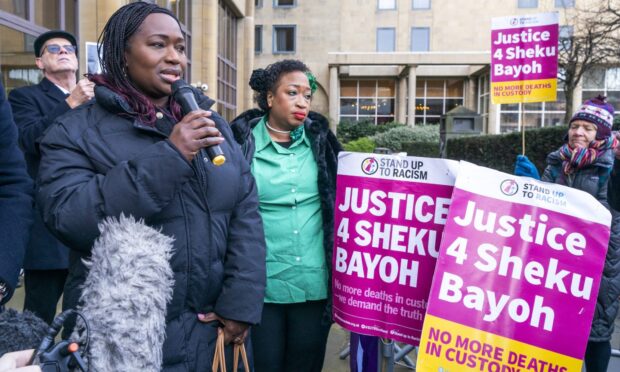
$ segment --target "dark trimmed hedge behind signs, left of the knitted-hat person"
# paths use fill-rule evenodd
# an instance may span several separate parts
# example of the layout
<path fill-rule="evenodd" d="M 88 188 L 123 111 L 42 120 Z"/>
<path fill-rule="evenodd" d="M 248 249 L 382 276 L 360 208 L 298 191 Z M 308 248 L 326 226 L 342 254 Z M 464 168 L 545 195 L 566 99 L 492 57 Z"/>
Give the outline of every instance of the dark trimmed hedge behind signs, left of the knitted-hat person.
<path fill-rule="evenodd" d="M 566 126 L 557 126 L 525 132 L 525 155 L 540 174 L 545 169 L 547 154 L 564 144 L 567 130 Z M 507 173 L 513 173 L 515 160 L 520 154 L 520 132 L 448 140 L 448 159 L 466 160 Z"/>

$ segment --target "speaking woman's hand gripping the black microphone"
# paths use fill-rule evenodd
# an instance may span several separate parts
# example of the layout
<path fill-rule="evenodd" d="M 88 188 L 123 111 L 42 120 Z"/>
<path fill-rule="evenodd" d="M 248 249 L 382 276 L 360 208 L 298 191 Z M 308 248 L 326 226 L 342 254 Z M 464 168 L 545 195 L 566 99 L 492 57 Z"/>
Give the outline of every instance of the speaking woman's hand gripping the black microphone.
<path fill-rule="evenodd" d="M 224 142 L 215 122 L 209 118 L 211 112 L 201 110 L 194 97 L 191 86 L 183 79 L 172 84 L 172 97 L 181 105 L 185 117 L 172 131 L 170 141 L 177 146 L 183 155 L 191 161 L 197 152 L 206 148 L 207 155 L 213 164 L 224 164 L 226 158 L 219 144 Z"/>

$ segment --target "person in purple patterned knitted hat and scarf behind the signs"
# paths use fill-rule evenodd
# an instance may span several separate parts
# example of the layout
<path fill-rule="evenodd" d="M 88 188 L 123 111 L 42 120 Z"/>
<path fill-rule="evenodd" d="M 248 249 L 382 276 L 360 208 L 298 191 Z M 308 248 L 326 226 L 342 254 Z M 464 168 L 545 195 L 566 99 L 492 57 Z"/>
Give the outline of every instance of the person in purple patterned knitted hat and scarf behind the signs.
<path fill-rule="evenodd" d="M 605 97 L 584 102 L 571 118 L 566 143 L 547 156 L 541 180 L 585 191 L 610 209 L 608 183 L 618 144 L 611 132 L 613 114 L 614 108 L 605 102 Z M 537 176 L 536 167 L 525 157 L 517 159 L 515 170 L 518 176 Z M 614 186 L 610 191 L 620 192 Z M 586 348 L 587 372 L 607 371 L 610 340 L 620 306 L 620 213 L 616 207 L 610 209 L 611 236 Z"/>

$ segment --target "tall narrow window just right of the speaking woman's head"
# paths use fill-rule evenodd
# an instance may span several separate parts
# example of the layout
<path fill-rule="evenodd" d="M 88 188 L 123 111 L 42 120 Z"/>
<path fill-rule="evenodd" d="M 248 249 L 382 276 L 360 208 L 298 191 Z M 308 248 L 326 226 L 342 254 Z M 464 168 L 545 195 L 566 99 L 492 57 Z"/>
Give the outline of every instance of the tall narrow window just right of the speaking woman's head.
<path fill-rule="evenodd" d="M 237 17 L 219 0 L 217 40 L 217 111 L 227 121 L 237 115 Z"/>

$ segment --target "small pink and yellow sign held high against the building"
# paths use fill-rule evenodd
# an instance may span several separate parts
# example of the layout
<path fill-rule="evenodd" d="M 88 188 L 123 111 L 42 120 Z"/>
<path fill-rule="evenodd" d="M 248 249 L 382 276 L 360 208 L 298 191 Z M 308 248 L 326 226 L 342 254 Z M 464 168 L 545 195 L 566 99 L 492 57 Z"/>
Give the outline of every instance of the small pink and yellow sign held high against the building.
<path fill-rule="evenodd" d="M 555 101 L 557 74 L 558 13 L 493 18 L 493 103 Z"/>

